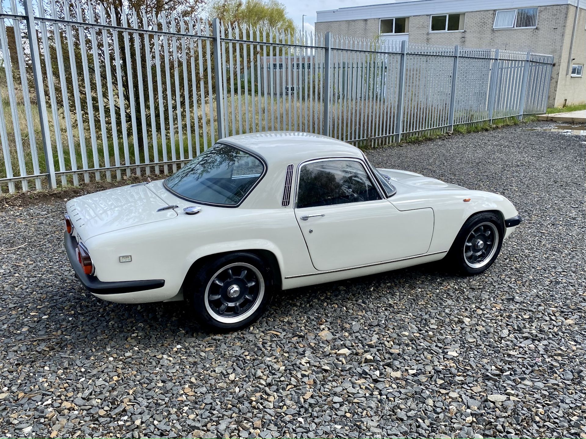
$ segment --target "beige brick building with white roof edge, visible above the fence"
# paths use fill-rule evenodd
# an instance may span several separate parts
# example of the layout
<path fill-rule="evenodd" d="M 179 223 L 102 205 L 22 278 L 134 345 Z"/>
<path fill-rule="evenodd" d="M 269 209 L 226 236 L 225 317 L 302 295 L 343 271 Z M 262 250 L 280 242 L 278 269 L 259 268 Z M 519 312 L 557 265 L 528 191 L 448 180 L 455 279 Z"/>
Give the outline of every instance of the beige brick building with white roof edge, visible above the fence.
<path fill-rule="evenodd" d="M 577 2 L 399 0 L 318 11 L 315 31 L 551 54 L 555 64 L 548 105 L 560 106 L 586 102 L 586 0 L 575 20 Z"/>

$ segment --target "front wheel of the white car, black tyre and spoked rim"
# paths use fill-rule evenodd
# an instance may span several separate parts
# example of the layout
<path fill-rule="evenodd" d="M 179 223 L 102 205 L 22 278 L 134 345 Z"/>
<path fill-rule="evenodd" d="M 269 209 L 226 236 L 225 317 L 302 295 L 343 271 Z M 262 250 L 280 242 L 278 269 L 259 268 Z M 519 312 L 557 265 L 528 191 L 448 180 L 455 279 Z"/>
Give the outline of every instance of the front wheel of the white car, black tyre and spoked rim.
<path fill-rule="evenodd" d="M 487 270 L 499 256 L 505 227 L 493 212 L 479 212 L 466 220 L 446 256 L 449 267 L 465 275 Z"/>

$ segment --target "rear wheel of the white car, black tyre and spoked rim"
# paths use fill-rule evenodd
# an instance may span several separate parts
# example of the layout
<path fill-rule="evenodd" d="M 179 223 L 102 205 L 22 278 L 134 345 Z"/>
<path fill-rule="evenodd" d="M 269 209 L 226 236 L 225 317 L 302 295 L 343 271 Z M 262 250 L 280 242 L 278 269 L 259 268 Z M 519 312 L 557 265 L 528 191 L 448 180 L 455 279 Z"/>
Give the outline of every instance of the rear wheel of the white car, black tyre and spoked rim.
<path fill-rule="evenodd" d="M 274 295 L 274 284 L 270 265 L 263 259 L 253 253 L 229 253 L 208 259 L 190 272 L 183 297 L 188 312 L 206 330 L 235 331 L 263 315 Z"/>

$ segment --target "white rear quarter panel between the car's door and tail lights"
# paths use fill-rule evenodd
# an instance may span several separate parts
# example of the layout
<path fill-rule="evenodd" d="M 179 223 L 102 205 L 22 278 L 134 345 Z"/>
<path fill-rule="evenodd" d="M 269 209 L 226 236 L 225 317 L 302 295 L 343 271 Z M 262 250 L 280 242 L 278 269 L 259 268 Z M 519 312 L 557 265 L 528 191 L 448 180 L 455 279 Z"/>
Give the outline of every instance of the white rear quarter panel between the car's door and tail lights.
<path fill-rule="evenodd" d="M 170 299 L 193 263 L 216 253 L 268 250 L 276 256 L 282 277 L 314 270 L 292 208 L 202 206 L 197 215 L 181 212 L 167 221 L 98 235 L 84 243 L 102 281 L 165 279 L 160 289 L 124 294 L 120 301 L 125 302 Z M 126 255 L 132 261 L 119 262 Z"/>

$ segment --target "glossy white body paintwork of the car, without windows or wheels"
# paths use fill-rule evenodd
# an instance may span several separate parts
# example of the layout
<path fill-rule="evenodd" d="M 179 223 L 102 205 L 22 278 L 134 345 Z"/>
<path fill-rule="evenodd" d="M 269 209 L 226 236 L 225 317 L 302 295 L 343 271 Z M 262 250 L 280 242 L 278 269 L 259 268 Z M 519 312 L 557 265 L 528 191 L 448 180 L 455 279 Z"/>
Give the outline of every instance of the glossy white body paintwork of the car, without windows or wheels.
<path fill-rule="evenodd" d="M 253 150 L 267 163 L 267 173 L 240 207 L 202 205 L 199 214 L 186 215 L 183 208 L 194 203 L 173 196 L 162 181 L 67 203 L 74 234 L 87 247 L 98 279 L 165 279 L 159 289 L 97 297 L 121 303 L 177 300 L 198 259 L 240 250 L 271 252 L 284 289 L 369 275 L 443 258 L 475 212 L 495 210 L 503 219 L 517 215 L 498 194 L 390 169 L 381 170 L 397 188 L 388 199 L 295 210 L 299 164 L 331 157 L 363 161 L 362 152 L 339 140 L 291 132 L 233 136 L 223 142 Z M 294 164 L 296 175 L 291 205 L 282 207 L 288 164 Z M 179 207 L 156 212 L 172 204 Z M 310 211 L 325 217 L 299 219 Z M 309 228 L 314 232 L 309 234 Z M 119 262 L 124 255 L 131 255 L 132 262 Z"/>

